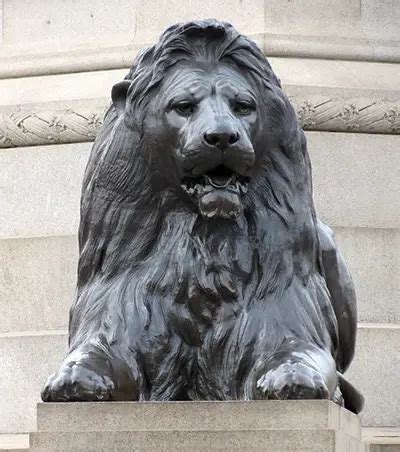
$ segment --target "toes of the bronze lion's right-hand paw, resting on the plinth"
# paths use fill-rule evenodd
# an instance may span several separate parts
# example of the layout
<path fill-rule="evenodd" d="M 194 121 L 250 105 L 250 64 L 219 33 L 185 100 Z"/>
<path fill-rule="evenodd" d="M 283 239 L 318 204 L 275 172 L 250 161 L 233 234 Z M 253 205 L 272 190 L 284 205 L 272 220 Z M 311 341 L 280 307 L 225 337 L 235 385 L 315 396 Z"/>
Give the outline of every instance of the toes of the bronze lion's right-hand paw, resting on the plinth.
<path fill-rule="evenodd" d="M 323 376 L 303 362 L 289 360 L 257 380 L 265 399 L 329 399 Z"/>

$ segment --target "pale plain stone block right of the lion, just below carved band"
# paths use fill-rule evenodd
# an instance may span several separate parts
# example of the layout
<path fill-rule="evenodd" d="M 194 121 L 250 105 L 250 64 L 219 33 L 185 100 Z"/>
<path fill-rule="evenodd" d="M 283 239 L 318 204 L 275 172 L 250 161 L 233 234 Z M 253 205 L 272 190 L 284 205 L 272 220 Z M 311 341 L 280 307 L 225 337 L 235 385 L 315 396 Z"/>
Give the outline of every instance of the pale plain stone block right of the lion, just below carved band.
<path fill-rule="evenodd" d="M 314 201 L 334 227 L 400 227 L 399 136 L 308 132 Z"/>

